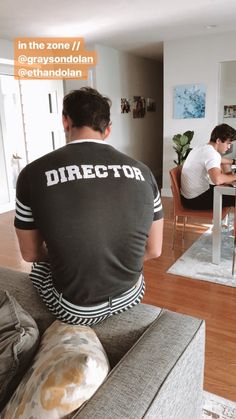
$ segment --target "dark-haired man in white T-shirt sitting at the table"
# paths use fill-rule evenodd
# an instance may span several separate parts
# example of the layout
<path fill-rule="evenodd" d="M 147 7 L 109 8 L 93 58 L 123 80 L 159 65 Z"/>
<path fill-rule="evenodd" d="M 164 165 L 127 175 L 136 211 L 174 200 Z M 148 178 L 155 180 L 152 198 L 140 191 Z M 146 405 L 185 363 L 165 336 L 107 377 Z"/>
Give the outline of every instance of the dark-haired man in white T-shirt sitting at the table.
<path fill-rule="evenodd" d="M 186 208 L 213 208 L 215 185 L 232 184 L 236 174 L 235 159 L 222 157 L 236 139 L 236 131 L 227 124 L 217 125 L 207 144 L 194 148 L 185 160 L 181 173 L 181 199 Z M 234 206 L 235 197 L 224 195 L 223 206 Z"/>

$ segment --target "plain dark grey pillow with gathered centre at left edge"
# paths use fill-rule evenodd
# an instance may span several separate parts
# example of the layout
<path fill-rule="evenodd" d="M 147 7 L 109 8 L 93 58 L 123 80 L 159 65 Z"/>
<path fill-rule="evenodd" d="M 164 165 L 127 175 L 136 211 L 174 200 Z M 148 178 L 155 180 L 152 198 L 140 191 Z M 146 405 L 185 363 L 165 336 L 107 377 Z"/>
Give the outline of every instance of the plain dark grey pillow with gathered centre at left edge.
<path fill-rule="evenodd" d="M 0 290 L 0 410 L 18 385 L 39 343 L 33 318 Z"/>

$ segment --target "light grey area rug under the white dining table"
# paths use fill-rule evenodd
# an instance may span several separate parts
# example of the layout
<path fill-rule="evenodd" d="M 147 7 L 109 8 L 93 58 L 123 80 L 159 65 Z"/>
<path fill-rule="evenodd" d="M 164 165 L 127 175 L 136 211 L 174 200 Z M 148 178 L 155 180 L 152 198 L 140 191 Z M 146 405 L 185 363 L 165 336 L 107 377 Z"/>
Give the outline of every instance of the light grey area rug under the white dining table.
<path fill-rule="evenodd" d="M 207 230 L 168 269 L 167 273 L 236 287 L 236 269 L 232 277 L 232 230 L 221 233 L 221 262 L 212 263 L 212 230 Z"/>

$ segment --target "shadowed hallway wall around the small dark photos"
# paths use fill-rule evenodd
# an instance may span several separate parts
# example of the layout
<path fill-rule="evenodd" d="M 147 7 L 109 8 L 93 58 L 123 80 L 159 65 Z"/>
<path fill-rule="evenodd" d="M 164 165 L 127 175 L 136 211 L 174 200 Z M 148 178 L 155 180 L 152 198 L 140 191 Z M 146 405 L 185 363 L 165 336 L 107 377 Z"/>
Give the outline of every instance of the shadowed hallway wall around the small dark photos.
<path fill-rule="evenodd" d="M 108 140 L 118 150 L 143 161 L 155 176 L 162 173 L 162 65 L 113 48 L 96 45 L 94 87 L 112 100 L 112 133 Z M 121 114 L 122 97 L 152 97 L 156 112 L 134 119 Z"/>

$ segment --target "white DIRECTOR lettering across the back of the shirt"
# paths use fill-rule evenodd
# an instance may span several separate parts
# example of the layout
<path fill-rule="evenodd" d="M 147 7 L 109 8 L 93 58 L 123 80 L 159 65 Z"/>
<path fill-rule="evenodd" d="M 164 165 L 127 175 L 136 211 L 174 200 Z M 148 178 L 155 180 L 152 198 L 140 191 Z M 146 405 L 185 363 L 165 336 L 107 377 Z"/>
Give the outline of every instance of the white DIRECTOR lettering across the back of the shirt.
<path fill-rule="evenodd" d="M 94 178 L 107 178 L 112 176 L 114 178 L 126 177 L 144 181 L 142 172 L 137 167 L 118 164 L 111 164 L 105 166 L 103 164 L 82 164 L 81 166 L 71 165 L 59 167 L 45 172 L 47 178 L 47 186 L 53 186 L 57 183 L 70 182 L 78 179 L 94 179 Z"/>

